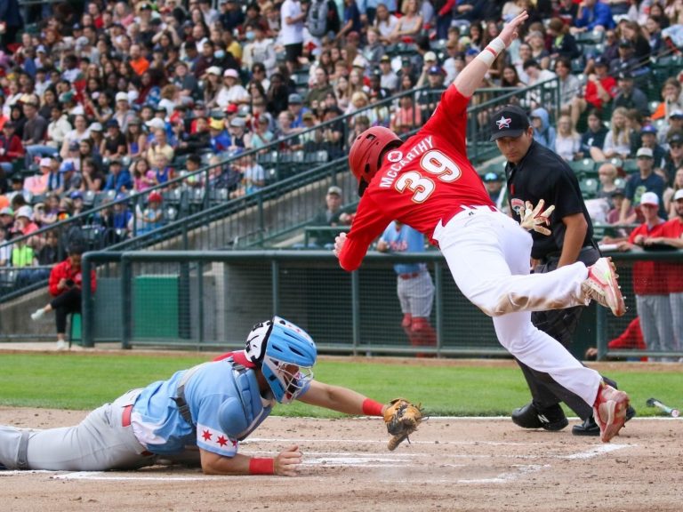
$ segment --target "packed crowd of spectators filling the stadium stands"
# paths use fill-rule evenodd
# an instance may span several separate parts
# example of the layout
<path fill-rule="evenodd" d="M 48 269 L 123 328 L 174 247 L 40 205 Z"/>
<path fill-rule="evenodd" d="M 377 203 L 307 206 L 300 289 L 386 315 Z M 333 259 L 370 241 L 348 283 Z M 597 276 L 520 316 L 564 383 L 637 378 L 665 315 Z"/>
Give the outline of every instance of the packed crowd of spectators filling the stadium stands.
<path fill-rule="evenodd" d="M 271 179 L 261 156 L 221 165 L 250 149 L 265 155 L 280 141 L 280 156 L 324 162 L 343 156 L 368 126 L 410 132 L 502 21 L 522 10 L 531 14 L 525 31 L 485 85 L 523 88 L 557 77 L 558 119 L 532 93 L 518 102 L 542 144 L 572 162 L 612 164 L 600 167 L 593 196 L 607 210 L 598 215 L 607 220 L 621 192 L 626 206 L 615 221 L 636 221 L 631 209 L 646 190 L 660 197 L 662 215 L 673 215 L 671 196 L 683 188 L 681 76 L 657 82 L 652 72 L 658 60 L 679 57 L 681 0 L 3 5 L 0 266 L 51 265 L 49 248 L 67 240 L 6 241 L 108 202 L 116 204 L 87 220 L 104 243 L 152 231 L 177 214 L 165 207 L 176 186 L 165 183 L 205 164 L 215 165 L 184 187 L 253 194 Z M 416 87 L 427 89 L 386 101 Z M 486 111 L 477 121 L 486 126 Z M 647 158 L 659 178 L 647 173 L 644 186 L 629 185 L 626 163 Z M 123 199 L 135 193 L 144 200 L 131 207 Z"/>

